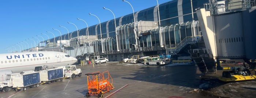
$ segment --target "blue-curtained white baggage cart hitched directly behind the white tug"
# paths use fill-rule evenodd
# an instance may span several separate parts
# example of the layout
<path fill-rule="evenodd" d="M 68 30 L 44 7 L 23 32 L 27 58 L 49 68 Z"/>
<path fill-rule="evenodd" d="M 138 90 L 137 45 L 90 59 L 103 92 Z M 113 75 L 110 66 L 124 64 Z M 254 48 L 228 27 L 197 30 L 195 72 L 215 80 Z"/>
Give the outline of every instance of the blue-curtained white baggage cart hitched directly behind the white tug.
<path fill-rule="evenodd" d="M 47 70 L 41 70 L 40 72 L 40 78 L 42 83 L 48 83 L 60 80 L 62 81 L 65 75 L 64 67 L 59 68 L 53 68 L 53 69 L 47 69 Z"/>

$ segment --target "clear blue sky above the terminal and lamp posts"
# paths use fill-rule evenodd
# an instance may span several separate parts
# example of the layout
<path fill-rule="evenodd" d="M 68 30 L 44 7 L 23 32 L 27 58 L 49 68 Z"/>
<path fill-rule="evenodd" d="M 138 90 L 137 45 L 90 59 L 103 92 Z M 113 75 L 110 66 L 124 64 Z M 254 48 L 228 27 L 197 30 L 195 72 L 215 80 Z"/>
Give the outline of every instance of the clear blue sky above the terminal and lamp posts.
<path fill-rule="evenodd" d="M 134 12 L 144 10 L 157 5 L 156 0 L 126 0 L 134 8 Z M 158 0 L 159 4 L 166 3 L 171 0 Z M 69 32 L 76 31 L 74 23 L 79 29 L 86 27 L 83 19 L 88 23 L 88 26 L 93 26 L 99 23 L 99 20 L 91 14 L 99 17 L 101 23 L 114 19 L 112 13 L 104 10 L 103 7 L 114 12 L 115 17 L 133 13 L 131 6 L 122 0 L 1 0 L 0 1 L 0 34 L 1 46 L 0 53 L 8 53 L 8 50 L 20 51 L 19 46 L 23 48 L 31 48 L 31 43 L 34 46 L 34 39 L 42 41 L 42 36 L 45 40 L 53 38 L 53 34 L 47 33 L 50 31 L 59 36 L 67 34 L 67 30 L 59 25 L 64 26 Z M 57 30 L 53 30 L 55 28 Z M 37 37 L 37 38 L 32 38 Z M 29 38 L 29 39 L 28 39 Z M 23 42 L 21 44 L 20 42 Z M 8 48 L 9 47 L 9 48 Z M 6 49 L 8 48 L 8 49 Z"/>

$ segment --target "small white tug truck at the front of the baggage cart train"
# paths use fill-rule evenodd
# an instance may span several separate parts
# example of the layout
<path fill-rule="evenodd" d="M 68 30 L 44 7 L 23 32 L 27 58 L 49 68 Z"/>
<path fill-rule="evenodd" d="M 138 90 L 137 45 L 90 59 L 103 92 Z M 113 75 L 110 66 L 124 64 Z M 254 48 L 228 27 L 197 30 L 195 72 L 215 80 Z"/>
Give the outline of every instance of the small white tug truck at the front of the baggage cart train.
<path fill-rule="evenodd" d="M 76 76 L 81 77 L 82 71 L 80 68 L 77 68 L 75 65 L 65 66 L 65 77 L 66 78 L 75 78 Z"/>

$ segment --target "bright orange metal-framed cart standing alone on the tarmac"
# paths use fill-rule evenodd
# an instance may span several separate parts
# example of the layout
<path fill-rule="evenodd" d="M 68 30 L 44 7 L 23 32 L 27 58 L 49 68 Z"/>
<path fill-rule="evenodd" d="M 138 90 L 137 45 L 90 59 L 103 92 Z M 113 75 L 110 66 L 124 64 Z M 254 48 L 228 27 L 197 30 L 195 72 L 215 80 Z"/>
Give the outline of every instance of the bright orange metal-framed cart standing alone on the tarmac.
<path fill-rule="evenodd" d="M 102 73 L 96 71 L 85 75 L 87 76 L 88 84 L 88 93 L 86 93 L 86 97 L 97 96 L 101 98 L 104 93 L 114 89 L 114 86 L 112 85 L 113 79 L 108 71 Z"/>

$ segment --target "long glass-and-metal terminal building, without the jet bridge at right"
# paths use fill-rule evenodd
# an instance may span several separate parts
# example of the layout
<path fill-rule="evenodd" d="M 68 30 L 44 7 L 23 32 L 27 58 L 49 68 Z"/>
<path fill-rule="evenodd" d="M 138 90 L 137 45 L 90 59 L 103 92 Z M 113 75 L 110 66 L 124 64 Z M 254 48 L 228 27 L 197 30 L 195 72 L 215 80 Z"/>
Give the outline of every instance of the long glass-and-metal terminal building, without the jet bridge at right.
<path fill-rule="evenodd" d="M 208 1 L 192 0 L 193 9 L 203 8 L 204 3 Z M 170 55 L 167 48 L 176 47 L 185 38 L 201 38 L 199 21 L 195 11 L 192 15 L 190 0 L 172 0 L 159 5 L 161 30 L 157 10 L 156 5 L 134 12 L 135 17 L 131 13 L 103 22 L 101 32 L 100 24 L 78 30 L 79 37 L 77 31 L 73 31 L 70 33 L 70 45 L 63 50 L 71 56 L 100 55 L 110 61 L 120 61 L 135 54 Z M 60 38 L 55 37 L 56 42 Z M 68 40 L 68 34 L 62 35 L 63 38 Z M 53 41 L 51 38 L 50 42 Z M 77 44 L 82 50 L 77 49 Z"/>

